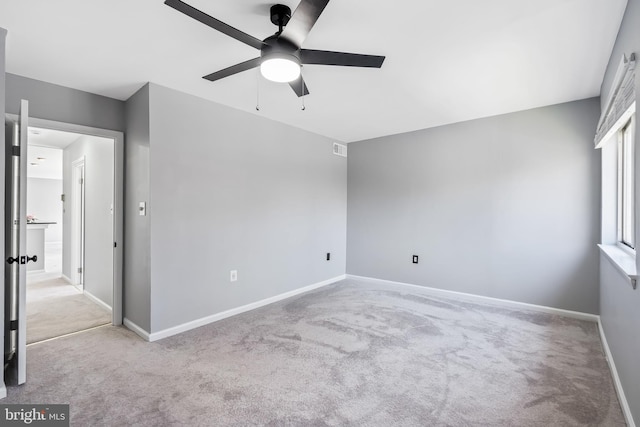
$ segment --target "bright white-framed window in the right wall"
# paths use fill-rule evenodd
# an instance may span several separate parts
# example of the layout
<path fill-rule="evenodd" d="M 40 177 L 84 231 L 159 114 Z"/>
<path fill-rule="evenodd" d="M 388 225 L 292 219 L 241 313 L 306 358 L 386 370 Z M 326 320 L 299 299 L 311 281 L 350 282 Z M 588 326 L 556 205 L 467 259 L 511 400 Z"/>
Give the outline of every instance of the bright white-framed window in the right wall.
<path fill-rule="evenodd" d="M 618 242 L 635 249 L 634 131 L 629 120 L 618 133 Z"/>

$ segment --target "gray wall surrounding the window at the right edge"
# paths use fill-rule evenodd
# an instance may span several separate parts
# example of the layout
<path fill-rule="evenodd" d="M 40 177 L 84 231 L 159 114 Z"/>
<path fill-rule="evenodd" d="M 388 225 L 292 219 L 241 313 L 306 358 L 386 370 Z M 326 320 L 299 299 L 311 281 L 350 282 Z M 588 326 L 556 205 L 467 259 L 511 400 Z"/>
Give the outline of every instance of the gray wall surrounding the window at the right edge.
<path fill-rule="evenodd" d="M 611 54 L 607 73 L 602 83 L 601 99 L 609 97 L 613 77 L 620 63 L 622 54 L 627 56 L 635 52 L 640 57 L 640 0 L 629 0 L 622 20 L 615 47 Z M 636 97 L 640 94 L 640 72 L 636 67 Z M 636 111 L 636 147 L 640 147 L 640 110 Z M 636 150 L 640 156 L 640 150 Z M 636 158 L 636 164 L 639 163 Z M 640 174 L 636 173 L 636 199 L 640 200 Z M 636 224 L 640 224 L 640 209 L 636 209 Z M 640 233 L 640 227 L 636 227 Z M 636 234 L 636 241 L 640 241 Z M 636 260 L 636 263 L 638 260 Z M 606 258 L 600 260 L 600 317 L 602 326 L 613 355 L 613 360 L 622 382 L 627 401 L 631 407 L 633 418 L 640 422 L 640 370 L 638 355 L 640 354 L 640 289 L 632 290 L 627 280 L 622 277 Z"/>

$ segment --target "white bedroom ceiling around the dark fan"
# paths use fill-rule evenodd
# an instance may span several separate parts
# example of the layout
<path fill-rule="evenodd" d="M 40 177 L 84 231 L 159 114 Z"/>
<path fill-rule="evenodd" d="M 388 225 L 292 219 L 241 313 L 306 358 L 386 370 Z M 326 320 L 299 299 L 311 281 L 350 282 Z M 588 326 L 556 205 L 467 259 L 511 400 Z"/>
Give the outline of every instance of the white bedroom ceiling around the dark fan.
<path fill-rule="evenodd" d="M 187 0 L 257 38 L 265 0 Z M 283 0 L 292 8 L 297 0 Z M 386 55 L 382 69 L 309 65 L 306 110 L 257 70 L 201 77 L 259 52 L 162 0 L 0 0 L 7 71 L 126 100 L 145 82 L 344 142 L 599 95 L 627 0 L 333 0 L 303 44 Z"/>

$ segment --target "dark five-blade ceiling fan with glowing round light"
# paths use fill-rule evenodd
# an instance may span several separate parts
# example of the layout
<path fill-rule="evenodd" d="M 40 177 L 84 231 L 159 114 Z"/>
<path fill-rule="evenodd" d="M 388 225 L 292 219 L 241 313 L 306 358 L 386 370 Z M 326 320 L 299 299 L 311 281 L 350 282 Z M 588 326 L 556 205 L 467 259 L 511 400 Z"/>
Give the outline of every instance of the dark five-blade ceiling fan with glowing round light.
<path fill-rule="evenodd" d="M 278 31 L 264 40 L 233 28 L 181 0 L 166 0 L 164 3 L 214 30 L 260 50 L 258 58 L 203 77 L 212 82 L 259 66 L 260 72 L 266 79 L 289 83 L 298 96 L 303 96 L 309 94 L 309 90 L 300 74 L 302 65 L 380 68 L 385 59 L 384 56 L 376 55 L 302 49 L 302 43 L 329 0 L 302 0 L 293 15 L 288 6 L 282 4 L 271 6 L 271 22 L 278 26 Z"/>

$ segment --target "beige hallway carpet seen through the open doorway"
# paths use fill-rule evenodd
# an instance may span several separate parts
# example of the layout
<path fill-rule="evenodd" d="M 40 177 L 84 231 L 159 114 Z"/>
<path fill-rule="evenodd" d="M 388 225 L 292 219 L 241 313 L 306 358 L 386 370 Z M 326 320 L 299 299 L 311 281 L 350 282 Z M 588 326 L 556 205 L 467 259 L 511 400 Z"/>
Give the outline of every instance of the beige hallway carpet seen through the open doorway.
<path fill-rule="evenodd" d="M 111 312 L 63 279 L 27 284 L 27 344 L 111 323 Z"/>

